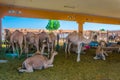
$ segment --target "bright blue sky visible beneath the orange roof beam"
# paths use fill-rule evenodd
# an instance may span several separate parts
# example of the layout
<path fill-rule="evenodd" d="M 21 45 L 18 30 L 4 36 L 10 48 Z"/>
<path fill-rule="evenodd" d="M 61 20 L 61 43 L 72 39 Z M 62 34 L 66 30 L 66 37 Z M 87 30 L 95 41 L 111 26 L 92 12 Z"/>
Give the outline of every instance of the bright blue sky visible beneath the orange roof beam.
<path fill-rule="evenodd" d="M 75 21 L 60 21 L 60 28 L 65 30 L 77 30 L 78 24 Z M 48 24 L 48 19 L 38 18 L 23 18 L 5 16 L 2 19 L 2 27 L 4 28 L 30 28 L 30 29 L 45 29 Z M 120 30 L 120 25 L 84 23 L 84 30 Z"/>

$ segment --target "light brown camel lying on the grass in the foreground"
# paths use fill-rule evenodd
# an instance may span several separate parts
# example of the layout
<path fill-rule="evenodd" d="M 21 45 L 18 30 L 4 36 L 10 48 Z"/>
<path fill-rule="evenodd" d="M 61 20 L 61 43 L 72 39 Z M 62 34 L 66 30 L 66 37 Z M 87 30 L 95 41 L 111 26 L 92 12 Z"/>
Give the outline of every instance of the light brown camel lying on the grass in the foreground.
<path fill-rule="evenodd" d="M 54 56 L 57 55 L 57 52 L 52 52 L 52 56 L 50 59 L 41 55 L 40 53 L 35 53 L 34 56 L 27 58 L 22 67 L 19 68 L 19 72 L 33 72 L 34 69 L 46 69 L 49 67 L 53 67 Z"/>

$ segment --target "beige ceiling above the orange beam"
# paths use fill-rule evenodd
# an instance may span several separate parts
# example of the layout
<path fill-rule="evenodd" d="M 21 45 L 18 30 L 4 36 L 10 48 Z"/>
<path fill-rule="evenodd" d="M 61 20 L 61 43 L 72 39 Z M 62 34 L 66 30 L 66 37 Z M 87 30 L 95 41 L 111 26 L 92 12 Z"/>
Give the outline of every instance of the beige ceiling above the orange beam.
<path fill-rule="evenodd" d="M 1 4 L 120 18 L 120 0 L 0 0 Z"/>

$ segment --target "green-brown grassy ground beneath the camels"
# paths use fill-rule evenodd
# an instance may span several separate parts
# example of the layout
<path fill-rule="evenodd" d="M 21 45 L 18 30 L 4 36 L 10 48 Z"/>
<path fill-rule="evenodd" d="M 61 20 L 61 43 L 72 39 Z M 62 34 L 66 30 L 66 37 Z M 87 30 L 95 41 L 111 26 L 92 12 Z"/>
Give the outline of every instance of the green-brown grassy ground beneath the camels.
<path fill-rule="evenodd" d="M 0 80 L 120 80 L 120 54 L 109 53 L 106 60 L 94 60 L 95 49 L 88 50 L 81 55 L 81 61 L 76 62 L 77 55 L 72 53 L 65 58 L 61 49 L 55 56 L 54 67 L 35 70 L 33 73 L 19 73 L 25 58 L 6 58 L 3 51 L 0 59 L 7 59 L 8 63 L 0 63 Z"/>

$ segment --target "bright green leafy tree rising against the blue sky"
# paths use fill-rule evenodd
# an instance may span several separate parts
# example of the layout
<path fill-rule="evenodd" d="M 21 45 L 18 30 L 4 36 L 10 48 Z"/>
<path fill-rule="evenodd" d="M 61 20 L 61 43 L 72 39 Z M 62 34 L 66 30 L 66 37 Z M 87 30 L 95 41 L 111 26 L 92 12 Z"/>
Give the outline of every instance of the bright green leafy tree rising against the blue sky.
<path fill-rule="evenodd" d="M 49 20 L 46 29 L 47 30 L 57 30 L 60 27 L 60 23 L 58 20 Z"/>

